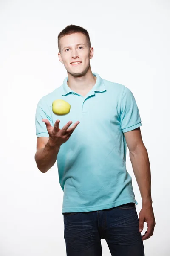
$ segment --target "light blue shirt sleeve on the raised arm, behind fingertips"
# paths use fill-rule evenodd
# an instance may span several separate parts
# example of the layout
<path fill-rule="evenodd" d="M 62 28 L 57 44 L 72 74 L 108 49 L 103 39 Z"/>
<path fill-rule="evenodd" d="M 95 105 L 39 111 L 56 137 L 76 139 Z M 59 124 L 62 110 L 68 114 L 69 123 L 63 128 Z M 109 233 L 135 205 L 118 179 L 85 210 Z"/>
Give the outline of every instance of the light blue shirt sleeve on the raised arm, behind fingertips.
<path fill-rule="evenodd" d="M 48 119 L 50 124 L 53 126 L 48 105 L 45 102 L 43 102 L 42 99 L 40 99 L 40 101 L 37 104 L 37 109 L 35 113 L 35 127 L 37 138 L 49 137 L 45 122 L 42 122 L 42 119 Z"/>

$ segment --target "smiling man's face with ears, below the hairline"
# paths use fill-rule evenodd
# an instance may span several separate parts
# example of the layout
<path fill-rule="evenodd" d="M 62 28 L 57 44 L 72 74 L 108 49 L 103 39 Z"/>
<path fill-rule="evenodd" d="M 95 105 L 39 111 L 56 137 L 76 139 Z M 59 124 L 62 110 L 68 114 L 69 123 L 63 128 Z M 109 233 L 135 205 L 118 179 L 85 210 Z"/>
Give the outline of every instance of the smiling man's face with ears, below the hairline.
<path fill-rule="evenodd" d="M 59 61 L 72 76 L 84 75 L 90 65 L 94 49 L 89 47 L 86 36 L 82 33 L 65 35 L 59 41 Z"/>

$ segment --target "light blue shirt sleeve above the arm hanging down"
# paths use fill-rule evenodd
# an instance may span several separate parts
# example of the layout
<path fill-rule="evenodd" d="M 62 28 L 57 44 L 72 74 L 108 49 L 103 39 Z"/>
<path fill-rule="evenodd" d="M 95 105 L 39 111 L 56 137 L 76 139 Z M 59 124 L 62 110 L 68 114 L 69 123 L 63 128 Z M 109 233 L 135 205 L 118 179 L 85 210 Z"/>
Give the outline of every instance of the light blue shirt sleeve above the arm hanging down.
<path fill-rule="evenodd" d="M 120 106 L 120 126 L 123 133 L 142 126 L 136 100 L 127 87 L 123 91 Z"/>

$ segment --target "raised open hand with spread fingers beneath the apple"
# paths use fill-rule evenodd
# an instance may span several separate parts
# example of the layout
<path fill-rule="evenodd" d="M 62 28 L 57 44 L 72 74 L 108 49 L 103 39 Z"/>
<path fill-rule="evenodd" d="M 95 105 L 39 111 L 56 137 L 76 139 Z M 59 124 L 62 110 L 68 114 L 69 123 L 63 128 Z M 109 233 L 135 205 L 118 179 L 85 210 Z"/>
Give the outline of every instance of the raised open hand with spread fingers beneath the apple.
<path fill-rule="evenodd" d="M 69 126 L 72 124 L 72 121 L 69 121 L 66 125 L 62 127 L 62 129 L 59 129 L 60 120 L 56 120 L 54 127 L 51 126 L 50 122 L 47 119 L 42 119 L 42 122 L 45 122 L 45 125 L 47 127 L 50 145 L 57 148 L 59 148 L 70 138 L 71 134 L 74 132 L 77 125 L 79 124 L 79 121 L 77 121 L 71 128 L 69 128 Z"/>

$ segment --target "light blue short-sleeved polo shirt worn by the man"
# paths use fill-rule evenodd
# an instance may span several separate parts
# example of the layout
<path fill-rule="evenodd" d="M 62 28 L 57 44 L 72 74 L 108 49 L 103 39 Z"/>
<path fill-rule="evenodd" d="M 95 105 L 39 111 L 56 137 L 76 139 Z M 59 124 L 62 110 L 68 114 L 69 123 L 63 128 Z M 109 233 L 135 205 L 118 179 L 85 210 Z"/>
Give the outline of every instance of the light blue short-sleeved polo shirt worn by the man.
<path fill-rule="evenodd" d="M 79 121 L 57 156 L 59 183 L 64 192 L 62 213 L 109 209 L 135 200 L 132 179 L 126 169 L 124 133 L 141 126 L 133 93 L 124 85 L 96 76 L 96 84 L 83 97 L 67 85 L 43 96 L 37 104 L 35 125 L 38 137 L 49 137 L 42 119 L 52 126 L 60 120 L 61 129 L 68 121 Z M 59 116 L 52 102 L 63 99 L 70 113 Z"/>

